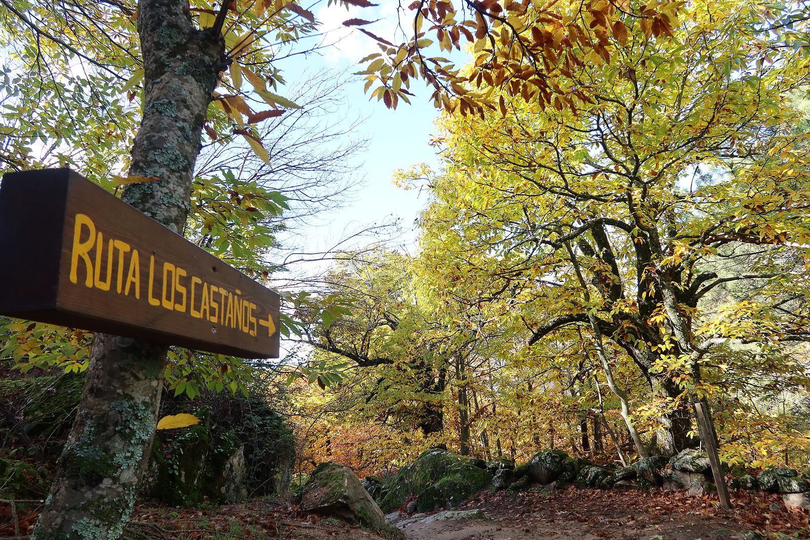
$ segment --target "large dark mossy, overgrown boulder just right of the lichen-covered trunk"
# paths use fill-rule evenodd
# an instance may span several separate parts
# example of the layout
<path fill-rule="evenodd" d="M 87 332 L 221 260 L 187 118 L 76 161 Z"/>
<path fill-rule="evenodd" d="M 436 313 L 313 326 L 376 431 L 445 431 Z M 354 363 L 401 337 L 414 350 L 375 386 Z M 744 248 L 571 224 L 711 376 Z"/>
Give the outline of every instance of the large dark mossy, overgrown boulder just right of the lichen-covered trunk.
<path fill-rule="evenodd" d="M 156 436 L 139 484 L 143 500 L 224 504 L 287 491 L 295 458 L 292 432 L 262 398 L 204 393 L 190 402 L 168 395 L 160 415 L 180 412 L 202 422 Z"/>

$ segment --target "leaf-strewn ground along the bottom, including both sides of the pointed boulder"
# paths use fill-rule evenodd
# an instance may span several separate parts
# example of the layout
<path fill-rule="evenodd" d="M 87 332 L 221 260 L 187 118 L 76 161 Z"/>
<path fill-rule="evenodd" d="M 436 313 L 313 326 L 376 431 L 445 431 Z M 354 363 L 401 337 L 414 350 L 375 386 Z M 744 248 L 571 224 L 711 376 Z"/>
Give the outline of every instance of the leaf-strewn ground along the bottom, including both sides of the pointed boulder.
<path fill-rule="evenodd" d="M 726 540 L 752 530 L 762 538 L 810 538 L 810 511 L 785 508 L 778 495 L 735 494 L 735 508 L 724 511 L 710 497 L 673 491 L 600 491 L 569 488 L 482 494 L 461 510 L 480 509 L 485 520 L 438 521 L 408 525 L 408 540 Z M 2 506 L 2 505 L 0 505 Z M 0 508 L 0 538 L 15 536 Z M 22 509 L 22 508 L 20 508 Z M 38 508 L 36 508 L 38 509 Z M 17 538 L 30 534 L 31 508 Z M 6 514 L 6 515 L 4 515 Z M 404 515 L 403 515 L 404 517 Z M 386 534 L 386 540 L 401 540 Z M 262 499 L 210 508 L 139 505 L 125 538 L 145 540 L 380 540 L 334 518 L 298 512 L 294 504 Z M 786 538 L 782 536 L 781 538 Z"/>

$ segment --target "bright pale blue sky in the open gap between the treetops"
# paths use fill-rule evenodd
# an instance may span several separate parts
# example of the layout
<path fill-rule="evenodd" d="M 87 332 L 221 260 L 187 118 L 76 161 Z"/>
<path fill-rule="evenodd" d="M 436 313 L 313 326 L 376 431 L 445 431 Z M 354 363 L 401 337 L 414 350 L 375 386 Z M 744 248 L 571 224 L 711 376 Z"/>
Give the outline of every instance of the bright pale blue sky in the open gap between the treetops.
<path fill-rule="evenodd" d="M 314 11 L 321 23 L 326 43 L 333 44 L 322 49 L 318 54 L 306 57 L 308 70 L 317 70 L 326 66 L 335 70 L 348 70 L 350 73 L 360 70 L 356 65 L 362 57 L 377 52 L 375 41 L 354 28 L 342 26 L 343 20 L 353 17 L 375 20 L 377 23 L 369 28 L 377 35 L 392 39 L 396 30 L 397 2 L 381 2 L 373 8 L 345 8 L 333 4 L 326 6 L 323 2 Z M 394 42 L 403 40 L 403 35 L 395 37 Z M 296 79 L 296 66 L 283 66 L 288 81 Z M 348 117 L 367 117 L 359 127 L 359 134 L 369 138 L 369 148 L 358 156 L 360 164 L 358 176 L 364 178 L 363 186 L 357 190 L 354 201 L 329 216 L 324 223 L 311 227 L 307 241 L 313 248 L 326 248 L 343 236 L 360 230 L 372 223 L 399 218 L 403 229 L 400 240 L 413 253 L 416 244 L 416 227 L 414 220 L 420 210 L 427 204 L 425 193 L 416 190 L 403 190 L 391 181 L 392 173 L 398 168 L 408 168 L 411 164 L 427 163 L 435 168 L 438 164 L 435 150 L 429 146 L 430 138 L 436 133 L 433 121 L 439 113 L 429 100 L 430 91 L 424 81 L 414 81 L 411 91 L 416 94 L 412 104 L 400 102 L 399 108 L 392 111 L 374 98 L 369 101 L 364 93 L 362 76 L 354 76 L 355 82 L 345 88 L 349 108 Z M 364 241 L 371 239 L 365 238 Z"/>

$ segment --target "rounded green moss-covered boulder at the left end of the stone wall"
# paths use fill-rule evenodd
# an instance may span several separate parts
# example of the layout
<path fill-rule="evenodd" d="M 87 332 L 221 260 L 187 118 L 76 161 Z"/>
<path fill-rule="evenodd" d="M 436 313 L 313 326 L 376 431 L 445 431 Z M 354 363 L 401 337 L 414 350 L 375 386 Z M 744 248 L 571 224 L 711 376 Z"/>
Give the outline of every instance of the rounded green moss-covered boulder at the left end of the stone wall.
<path fill-rule="evenodd" d="M 492 475 L 476 464 L 446 450 L 425 450 L 383 483 L 377 496 L 380 508 L 390 512 L 411 495 L 417 495 L 416 510 L 420 512 L 459 504 L 492 481 Z"/>

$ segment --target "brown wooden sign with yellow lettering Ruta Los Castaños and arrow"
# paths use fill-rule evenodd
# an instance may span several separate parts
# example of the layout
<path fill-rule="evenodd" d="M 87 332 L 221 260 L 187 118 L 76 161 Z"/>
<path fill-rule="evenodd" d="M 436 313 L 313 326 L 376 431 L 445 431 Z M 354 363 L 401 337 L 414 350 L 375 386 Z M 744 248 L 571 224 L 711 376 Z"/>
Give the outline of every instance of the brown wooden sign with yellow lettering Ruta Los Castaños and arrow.
<path fill-rule="evenodd" d="M 67 168 L 0 184 L 0 313 L 278 358 L 279 295 Z"/>

